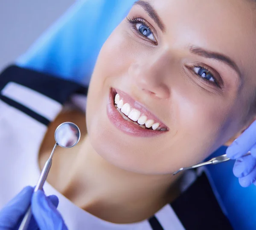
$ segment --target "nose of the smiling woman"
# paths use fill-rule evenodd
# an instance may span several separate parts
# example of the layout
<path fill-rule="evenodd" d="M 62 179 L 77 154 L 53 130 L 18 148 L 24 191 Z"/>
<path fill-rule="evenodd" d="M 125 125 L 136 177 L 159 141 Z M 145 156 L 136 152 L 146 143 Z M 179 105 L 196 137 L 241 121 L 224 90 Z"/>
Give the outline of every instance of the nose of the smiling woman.
<path fill-rule="evenodd" d="M 134 80 L 136 86 L 157 99 L 170 97 L 170 89 L 166 83 L 169 77 L 169 57 L 167 52 L 159 52 L 148 58 L 134 63 L 129 68 L 129 77 Z"/>

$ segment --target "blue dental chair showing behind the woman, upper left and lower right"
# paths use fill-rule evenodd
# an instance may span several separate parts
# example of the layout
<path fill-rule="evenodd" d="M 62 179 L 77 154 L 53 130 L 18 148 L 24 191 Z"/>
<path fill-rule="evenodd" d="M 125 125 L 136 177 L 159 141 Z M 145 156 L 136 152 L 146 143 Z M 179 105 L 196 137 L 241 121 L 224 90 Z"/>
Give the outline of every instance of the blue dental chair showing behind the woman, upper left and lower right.
<path fill-rule="evenodd" d="M 16 64 L 88 84 L 101 46 L 133 3 L 134 0 L 77 1 Z M 226 147 L 221 147 L 210 157 L 225 151 Z M 242 188 L 232 173 L 233 164 L 234 161 L 227 161 L 208 166 L 205 171 L 233 228 L 255 230 L 256 186 Z"/>

